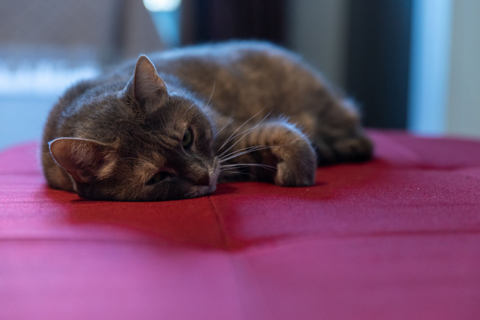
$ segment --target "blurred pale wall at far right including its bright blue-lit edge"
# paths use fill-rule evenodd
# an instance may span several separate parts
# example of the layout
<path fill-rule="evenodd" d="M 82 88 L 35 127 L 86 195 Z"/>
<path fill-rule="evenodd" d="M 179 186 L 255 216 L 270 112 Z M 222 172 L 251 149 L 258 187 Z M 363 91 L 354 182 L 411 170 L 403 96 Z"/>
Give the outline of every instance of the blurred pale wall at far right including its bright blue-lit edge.
<path fill-rule="evenodd" d="M 480 1 L 413 7 L 409 129 L 480 137 Z"/>

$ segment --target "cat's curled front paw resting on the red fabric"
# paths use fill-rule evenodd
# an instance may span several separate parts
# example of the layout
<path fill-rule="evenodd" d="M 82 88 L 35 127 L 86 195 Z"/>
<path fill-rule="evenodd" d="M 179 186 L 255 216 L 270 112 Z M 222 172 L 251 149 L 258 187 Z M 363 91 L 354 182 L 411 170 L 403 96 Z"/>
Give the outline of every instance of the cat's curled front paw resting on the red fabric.
<path fill-rule="evenodd" d="M 317 159 L 312 145 L 297 128 L 282 125 L 275 128 L 275 184 L 282 187 L 305 187 L 315 183 Z M 281 142 L 281 143 L 278 143 Z"/>

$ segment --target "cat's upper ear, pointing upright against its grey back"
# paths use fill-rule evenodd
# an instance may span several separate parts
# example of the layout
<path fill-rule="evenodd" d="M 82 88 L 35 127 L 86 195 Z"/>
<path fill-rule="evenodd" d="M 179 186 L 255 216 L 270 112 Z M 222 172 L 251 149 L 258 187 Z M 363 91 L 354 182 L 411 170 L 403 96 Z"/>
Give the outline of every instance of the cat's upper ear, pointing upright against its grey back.
<path fill-rule="evenodd" d="M 151 113 L 161 106 L 167 96 L 167 87 L 158 76 L 155 66 L 146 56 L 138 57 L 135 73 L 125 87 L 125 94 L 135 99 L 145 112 Z"/>

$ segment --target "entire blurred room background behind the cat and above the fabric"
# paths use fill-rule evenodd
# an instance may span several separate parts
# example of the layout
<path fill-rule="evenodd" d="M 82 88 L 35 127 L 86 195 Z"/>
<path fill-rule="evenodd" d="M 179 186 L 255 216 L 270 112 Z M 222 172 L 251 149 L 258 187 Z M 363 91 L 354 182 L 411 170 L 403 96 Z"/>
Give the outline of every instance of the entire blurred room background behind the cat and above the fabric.
<path fill-rule="evenodd" d="M 478 0 L 1 0 L 0 150 L 39 140 L 66 87 L 209 41 L 300 53 L 368 127 L 480 137 Z"/>

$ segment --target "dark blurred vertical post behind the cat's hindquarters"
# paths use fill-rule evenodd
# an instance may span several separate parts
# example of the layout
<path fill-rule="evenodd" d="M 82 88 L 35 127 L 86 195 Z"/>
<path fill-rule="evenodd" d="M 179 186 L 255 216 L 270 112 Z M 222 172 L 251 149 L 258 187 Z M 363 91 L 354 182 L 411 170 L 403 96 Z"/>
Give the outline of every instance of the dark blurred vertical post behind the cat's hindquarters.
<path fill-rule="evenodd" d="M 366 126 L 407 126 L 412 1 L 349 1 L 347 89 Z"/>

